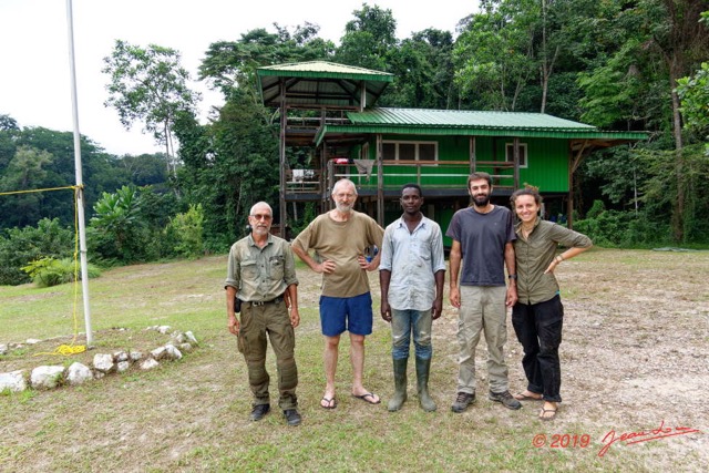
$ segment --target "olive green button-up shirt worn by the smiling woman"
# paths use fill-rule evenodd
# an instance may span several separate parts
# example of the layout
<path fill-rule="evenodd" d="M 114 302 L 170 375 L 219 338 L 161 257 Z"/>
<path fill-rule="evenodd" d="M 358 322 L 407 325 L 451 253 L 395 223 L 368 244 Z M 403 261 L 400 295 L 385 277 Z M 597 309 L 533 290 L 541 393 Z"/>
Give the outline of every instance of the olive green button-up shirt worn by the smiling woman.
<path fill-rule="evenodd" d="M 558 245 L 580 248 L 593 245 L 586 235 L 541 218 L 536 219 L 526 240 L 522 238 L 522 224 L 515 226 L 515 233 L 517 297 L 522 304 L 544 302 L 558 292 L 554 274 L 544 274 L 556 256 Z"/>

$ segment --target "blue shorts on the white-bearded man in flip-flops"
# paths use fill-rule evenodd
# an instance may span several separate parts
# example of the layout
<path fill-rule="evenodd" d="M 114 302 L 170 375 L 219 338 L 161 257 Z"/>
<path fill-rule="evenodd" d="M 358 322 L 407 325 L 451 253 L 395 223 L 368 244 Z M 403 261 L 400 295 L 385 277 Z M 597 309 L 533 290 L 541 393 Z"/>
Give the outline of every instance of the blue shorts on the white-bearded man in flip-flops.
<path fill-rule="evenodd" d="M 326 337 L 337 337 L 345 330 L 354 335 L 370 335 L 372 320 L 370 292 L 354 297 L 320 296 L 320 327 Z"/>

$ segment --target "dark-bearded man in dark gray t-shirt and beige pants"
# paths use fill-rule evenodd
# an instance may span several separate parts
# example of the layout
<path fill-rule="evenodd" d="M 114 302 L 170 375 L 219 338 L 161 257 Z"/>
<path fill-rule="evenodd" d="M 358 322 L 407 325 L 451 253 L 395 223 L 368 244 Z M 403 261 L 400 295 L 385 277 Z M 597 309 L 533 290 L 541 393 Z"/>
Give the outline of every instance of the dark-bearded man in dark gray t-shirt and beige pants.
<path fill-rule="evenodd" d="M 451 410 L 463 412 L 475 401 L 475 348 L 482 331 L 487 342 L 487 397 L 508 409 L 520 409 L 522 404 L 510 394 L 503 353 L 507 341 L 507 307 L 517 300 L 512 212 L 490 202 L 492 178 L 487 173 L 471 174 L 467 192 L 473 205 L 458 210 L 445 233 L 453 239 L 449 298 L 459 309 L 460 367 L 458 395 Z"/>

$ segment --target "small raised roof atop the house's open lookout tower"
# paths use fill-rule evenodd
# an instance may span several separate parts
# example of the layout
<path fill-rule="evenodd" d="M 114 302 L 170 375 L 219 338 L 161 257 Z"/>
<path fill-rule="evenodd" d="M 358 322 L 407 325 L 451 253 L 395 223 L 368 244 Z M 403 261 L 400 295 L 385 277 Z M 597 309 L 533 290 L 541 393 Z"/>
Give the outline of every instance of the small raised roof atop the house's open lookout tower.
<path fill-rule="evenodd" d="M 359 107 L 361 86 L 366 90 L 366 104 L 371 105 L 394 80 L 387 72 L 326 61 L 258 68 L 256 75 L 266 106 L 280 105 L 281 83 L 290 105 Z"/>

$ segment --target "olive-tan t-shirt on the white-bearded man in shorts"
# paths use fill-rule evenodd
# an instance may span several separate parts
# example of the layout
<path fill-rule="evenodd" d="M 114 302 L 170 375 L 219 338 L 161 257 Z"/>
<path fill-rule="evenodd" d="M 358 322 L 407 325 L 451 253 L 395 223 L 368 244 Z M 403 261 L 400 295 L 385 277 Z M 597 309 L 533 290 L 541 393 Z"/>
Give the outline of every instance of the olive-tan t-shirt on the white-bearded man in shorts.
<path fill-rule="evenodd" d="M 335 222 L 329 213 L 319 215 L 296 237 L 292 245 L 314 250 L 322 261 L 335 261 L 335 271 L 322 274 L 322 296 L 354 297 L 369 292 L 369 278 L 357 260 L 364 248 L 381 248 L 384 229 L 367 214 L 352 210 L 347 222 Z"/>

